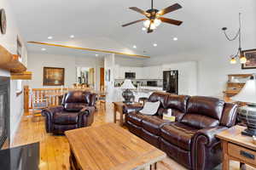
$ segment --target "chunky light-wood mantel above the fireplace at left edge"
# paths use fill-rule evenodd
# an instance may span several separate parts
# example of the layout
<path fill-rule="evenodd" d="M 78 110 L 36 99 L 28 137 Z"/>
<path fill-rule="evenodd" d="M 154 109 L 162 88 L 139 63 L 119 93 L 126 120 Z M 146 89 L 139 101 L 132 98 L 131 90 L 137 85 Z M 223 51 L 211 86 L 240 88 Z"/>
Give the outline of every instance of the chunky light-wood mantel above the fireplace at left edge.
<path fill-rule="evenodd" d="M 0 68 L 11 72 L 11 78 L 15 80 L 31 80 L 32 72 L 26 71 L 26 66 L 19 61 L 19 56 L 10 54 L 6 48 L 0 45 Z"/>

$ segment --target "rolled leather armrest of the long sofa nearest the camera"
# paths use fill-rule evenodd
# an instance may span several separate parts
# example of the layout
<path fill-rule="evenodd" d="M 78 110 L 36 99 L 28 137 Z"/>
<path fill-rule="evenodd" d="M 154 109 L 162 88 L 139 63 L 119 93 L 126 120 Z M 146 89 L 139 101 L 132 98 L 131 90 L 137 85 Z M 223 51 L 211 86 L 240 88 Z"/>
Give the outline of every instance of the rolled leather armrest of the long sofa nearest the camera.
<path fill-rule="evenodd" d="M 228 127 L 203 128 L 195 133 L 191 144 L 192 167 L 197 169 L 212 169 L 222 161 L 220 140 L 215 137 Z"/>

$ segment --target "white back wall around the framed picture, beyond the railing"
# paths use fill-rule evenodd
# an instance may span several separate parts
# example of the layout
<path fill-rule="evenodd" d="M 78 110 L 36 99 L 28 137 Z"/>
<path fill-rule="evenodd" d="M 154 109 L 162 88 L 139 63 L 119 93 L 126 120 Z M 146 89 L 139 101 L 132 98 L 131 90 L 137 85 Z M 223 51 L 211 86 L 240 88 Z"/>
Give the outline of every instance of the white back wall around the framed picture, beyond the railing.
<path fill-rule="evenodd" d="M 89 67 L 96 69 L 96 87 L 98 86 L 98 72 L 102 59 L 86 56 L 70 56 L 60 54 L 29 53 L 28 70 L 32 71 L 31 88 L 53 88 L 43 86 L 44 67 L 65 68 L 65 87 L 72 87 L 76 82 L 76 67 Z M 102 65 L 103 66 L 103 65 Z"/>

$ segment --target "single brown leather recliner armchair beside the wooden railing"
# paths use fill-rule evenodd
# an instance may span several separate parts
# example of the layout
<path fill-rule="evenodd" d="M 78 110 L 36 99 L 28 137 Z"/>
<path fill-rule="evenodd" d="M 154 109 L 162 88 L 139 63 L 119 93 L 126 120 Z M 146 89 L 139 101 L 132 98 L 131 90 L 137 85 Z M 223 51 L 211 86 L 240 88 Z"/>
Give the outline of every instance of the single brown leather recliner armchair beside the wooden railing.
<path fill-rule="evenodd" d="M 62 104 L 42 111 L 46 117 L 47 133 L 63 134 L 67 130 L 88 127 L 94 120 L 96 94 L 86 91 L 73 91 L 65 94 Z"/>

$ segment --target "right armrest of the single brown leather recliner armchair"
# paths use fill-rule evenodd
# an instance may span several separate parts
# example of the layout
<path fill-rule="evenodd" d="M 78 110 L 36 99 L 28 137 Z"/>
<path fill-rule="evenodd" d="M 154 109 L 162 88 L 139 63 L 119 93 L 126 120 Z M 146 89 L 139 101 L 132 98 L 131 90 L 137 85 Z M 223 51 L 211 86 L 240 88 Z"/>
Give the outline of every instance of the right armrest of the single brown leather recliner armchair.
<path fill-rule="evenodd" d="M 79 127 L 88 127 L 94 121 L 94 112 L 96 108 L 94 106 L 86 106 L 79 111 Z"/>

